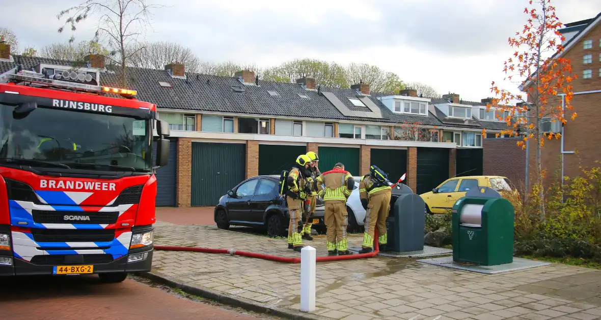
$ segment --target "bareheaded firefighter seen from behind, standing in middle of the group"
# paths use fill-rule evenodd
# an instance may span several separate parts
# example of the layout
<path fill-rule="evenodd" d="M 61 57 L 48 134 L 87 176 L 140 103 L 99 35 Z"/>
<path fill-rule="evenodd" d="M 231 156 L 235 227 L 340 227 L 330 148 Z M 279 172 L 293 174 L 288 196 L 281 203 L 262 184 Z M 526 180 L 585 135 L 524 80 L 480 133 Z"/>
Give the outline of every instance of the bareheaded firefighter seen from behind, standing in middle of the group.
<path fill-rule="evenodd" d="M 338 162 L 332 170 L 317 177 L 317 186 L 319 196 L 325 203 L 328 255 L 352 255 L 346 240 L 346 227 L 349 224 L 346 201 L 355 186 L 353 176 Z"/>

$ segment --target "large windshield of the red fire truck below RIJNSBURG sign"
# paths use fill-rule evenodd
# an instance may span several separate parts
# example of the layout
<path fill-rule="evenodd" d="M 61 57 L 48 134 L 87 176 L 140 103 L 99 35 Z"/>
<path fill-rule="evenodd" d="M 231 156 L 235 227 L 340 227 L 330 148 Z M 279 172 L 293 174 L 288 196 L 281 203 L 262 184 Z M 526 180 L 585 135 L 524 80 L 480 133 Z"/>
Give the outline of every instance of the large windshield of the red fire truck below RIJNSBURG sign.
<path fill-rule="evenodd" d="M 0 104 L 0 164 L 151 170 L 150 120 L 43 105 L 25 117 L 13 117 L 13 110 L 13 105 Z"/>

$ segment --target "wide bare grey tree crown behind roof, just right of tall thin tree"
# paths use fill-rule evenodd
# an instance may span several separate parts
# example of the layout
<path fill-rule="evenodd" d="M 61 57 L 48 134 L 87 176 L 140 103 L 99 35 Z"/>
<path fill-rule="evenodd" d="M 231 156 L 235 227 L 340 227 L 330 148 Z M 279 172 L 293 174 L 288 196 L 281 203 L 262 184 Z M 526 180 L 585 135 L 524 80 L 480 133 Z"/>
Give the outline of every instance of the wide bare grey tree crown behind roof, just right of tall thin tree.
<path fill-rule="evenodd" d="M 168 41 L 156 41 L 152 43 L 141 43 L 141 50 L 133 50 L 135 53 L 130 57 L 127 65 L 138 68 L 163 69 L 171 62 L 179 62 L 186 65 L 186 71 L 198 72 L 200 60 L 188 47 Z"/>

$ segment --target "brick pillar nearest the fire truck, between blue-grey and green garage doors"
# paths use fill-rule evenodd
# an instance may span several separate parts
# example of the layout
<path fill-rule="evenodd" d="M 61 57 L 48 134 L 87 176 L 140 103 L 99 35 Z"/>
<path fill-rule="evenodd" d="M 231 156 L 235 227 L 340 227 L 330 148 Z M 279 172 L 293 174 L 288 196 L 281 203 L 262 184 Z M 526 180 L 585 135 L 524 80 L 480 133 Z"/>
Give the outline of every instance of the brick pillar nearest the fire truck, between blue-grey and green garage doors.
<path fill-rule="evenodd" d="M 177 206 L 190 207 L 192 195 L 192 140 L 177 140 Z"/>

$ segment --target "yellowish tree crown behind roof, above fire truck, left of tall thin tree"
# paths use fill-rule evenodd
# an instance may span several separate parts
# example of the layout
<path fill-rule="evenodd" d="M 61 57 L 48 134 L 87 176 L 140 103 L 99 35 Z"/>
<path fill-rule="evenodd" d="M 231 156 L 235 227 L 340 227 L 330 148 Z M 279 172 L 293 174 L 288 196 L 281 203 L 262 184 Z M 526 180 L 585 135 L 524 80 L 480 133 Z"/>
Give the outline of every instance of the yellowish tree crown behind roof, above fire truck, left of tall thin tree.
<path fill-rule="evenodd" d="M 81 41 L 78 44 L 53 43 L 42 47 L 38 56 L 55 60 L 83 61 L 90 53 L 108 56 L 109 50 L 94 41 Z"/>

